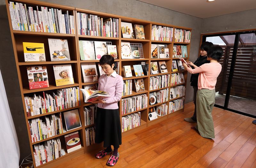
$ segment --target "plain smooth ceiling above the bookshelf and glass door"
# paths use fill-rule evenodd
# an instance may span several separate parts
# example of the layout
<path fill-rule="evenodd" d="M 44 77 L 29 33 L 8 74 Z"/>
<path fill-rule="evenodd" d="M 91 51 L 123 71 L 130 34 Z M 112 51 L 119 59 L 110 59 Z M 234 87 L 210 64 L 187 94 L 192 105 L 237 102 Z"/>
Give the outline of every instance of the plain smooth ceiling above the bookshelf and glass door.
<path fill-rule="evenodd" d="M 139 0 L 198 18 L 210 18 L 256 9 L 256 0 Z M 252 16 L 252 17 L 256 17 Z"/>

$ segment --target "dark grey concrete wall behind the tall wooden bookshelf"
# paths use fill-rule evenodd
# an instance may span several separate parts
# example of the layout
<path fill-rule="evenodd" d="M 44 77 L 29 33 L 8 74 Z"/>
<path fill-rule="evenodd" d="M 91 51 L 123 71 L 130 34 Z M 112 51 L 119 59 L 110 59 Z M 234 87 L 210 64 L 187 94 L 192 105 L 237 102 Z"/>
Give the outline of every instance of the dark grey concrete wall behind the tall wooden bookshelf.
<path fill-rule="evenodd" d="M 193 29 L 190 47 L 190 60 L 195 61 L 198 55 L 202 19 L 180 12 L 171 11 L 158 6 L 146 4 L 136 0 L 45 0 L 45 2 L 67 5 L 92 11 L 100 11 L 132 18 L 139 18 L 159 23 L 185 26 Z M 28 156 L 31 151 L 28 142 L 27 127 L 23 112 L 19 81 L 13 55 L 11 34 L 9 30 L 5 1 L 0 0 L 0 69 L 4 79 L 5 90 L 11 108 L 12 118 L 20 145 L 20 159 Z M 188 76 L 188 79 L 190 76 Z M 192 101 L 193 91 L 187 87 L 186 102 Z"/>

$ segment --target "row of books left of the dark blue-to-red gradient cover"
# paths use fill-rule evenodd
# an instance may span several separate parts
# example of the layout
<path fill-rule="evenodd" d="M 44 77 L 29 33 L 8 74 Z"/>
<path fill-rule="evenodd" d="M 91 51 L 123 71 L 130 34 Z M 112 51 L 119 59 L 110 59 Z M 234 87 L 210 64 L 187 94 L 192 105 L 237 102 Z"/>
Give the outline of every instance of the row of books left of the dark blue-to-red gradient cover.
<path fill-rule="evenodd" d="M 66 132 L 62 127 L 61 113 L 31 119 L 28 125 L 32 143 Z"/>

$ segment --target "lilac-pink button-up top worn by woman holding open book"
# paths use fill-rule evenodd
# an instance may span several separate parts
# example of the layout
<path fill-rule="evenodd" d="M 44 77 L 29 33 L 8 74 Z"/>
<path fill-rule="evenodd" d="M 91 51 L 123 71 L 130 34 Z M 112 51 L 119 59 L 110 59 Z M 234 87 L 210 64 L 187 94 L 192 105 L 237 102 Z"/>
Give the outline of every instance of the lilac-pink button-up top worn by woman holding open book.
<path fill-rule="evenodd" d="M 101 75 L 99 78 L 99 91 L 107 91 L 110 97 L 106 97 L 106 104 L 98 103 L 98 107 L 104 109 L 118 109 L 118 101 L 121 100 L 124 90 L 123 77 L 116 74 L 114 71 L 111 75 Z"/>

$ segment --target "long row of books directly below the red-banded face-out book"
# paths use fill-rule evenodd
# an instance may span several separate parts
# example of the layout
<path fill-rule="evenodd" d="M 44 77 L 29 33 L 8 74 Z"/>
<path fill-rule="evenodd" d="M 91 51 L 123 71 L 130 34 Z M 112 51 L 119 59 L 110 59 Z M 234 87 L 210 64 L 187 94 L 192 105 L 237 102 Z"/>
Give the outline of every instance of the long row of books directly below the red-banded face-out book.
<path fill-rule="evenodd" d="M 27 116 L 34 116 L 80 106 L 80 94 L 78 87 L 58 89 L 51 94 L 43 92 L 43 95 L 24 96 Z"/>

